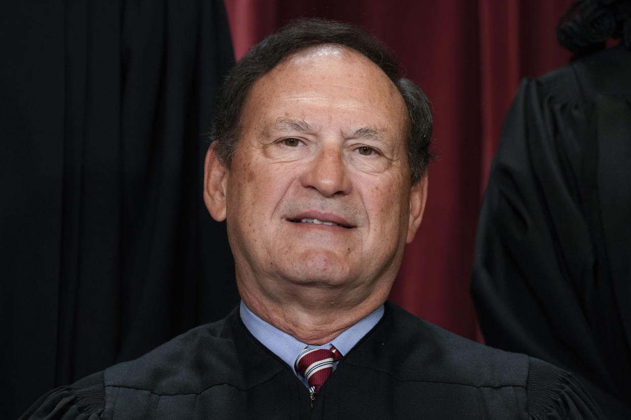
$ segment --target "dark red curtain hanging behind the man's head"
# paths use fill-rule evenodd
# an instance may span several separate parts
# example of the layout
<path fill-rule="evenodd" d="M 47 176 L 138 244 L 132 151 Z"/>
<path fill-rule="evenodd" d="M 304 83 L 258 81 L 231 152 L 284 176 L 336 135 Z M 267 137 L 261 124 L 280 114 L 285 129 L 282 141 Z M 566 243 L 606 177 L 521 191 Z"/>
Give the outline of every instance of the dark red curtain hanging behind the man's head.
<path fill-rule="evenodd" d="M 476 221 L 490 161 L 523 77 L 563 65 L 555 25 L 571 0 L 226 0 L 235 56 L 293 18 L 364 26 L 398 55 L 432 101 L 427 210 L 391 300 L 480 340 L 469 298 Z"/>

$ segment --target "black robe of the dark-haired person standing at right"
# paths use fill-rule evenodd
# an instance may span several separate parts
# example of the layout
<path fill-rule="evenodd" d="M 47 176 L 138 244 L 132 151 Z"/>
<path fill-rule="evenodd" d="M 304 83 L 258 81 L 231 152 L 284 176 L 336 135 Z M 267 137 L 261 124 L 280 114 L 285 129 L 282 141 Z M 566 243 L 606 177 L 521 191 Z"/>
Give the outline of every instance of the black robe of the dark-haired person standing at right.
<path fill-rule="evenodd" d="M 605 414 L 631 419 L 631 51 L 522 83 L 471 291 L 487 344 L 575 373 Z"/>

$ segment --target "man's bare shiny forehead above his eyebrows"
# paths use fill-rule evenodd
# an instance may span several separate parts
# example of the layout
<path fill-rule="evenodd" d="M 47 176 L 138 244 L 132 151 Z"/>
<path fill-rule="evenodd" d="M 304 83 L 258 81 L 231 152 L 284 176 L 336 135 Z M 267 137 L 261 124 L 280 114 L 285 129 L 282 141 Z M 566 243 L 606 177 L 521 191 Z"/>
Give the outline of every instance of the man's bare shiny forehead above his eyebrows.
<path fill-rule="evenodd" d="M 289 116 L 305 106 L 375 119 L 372 123 L 387 123 L 395 131 L 407 127 L 406 106 L 394 83 L 370 59 L 339 45 L 302 50 L 262 76 L 252 86 L 242 122 L 262 114 Z"/>

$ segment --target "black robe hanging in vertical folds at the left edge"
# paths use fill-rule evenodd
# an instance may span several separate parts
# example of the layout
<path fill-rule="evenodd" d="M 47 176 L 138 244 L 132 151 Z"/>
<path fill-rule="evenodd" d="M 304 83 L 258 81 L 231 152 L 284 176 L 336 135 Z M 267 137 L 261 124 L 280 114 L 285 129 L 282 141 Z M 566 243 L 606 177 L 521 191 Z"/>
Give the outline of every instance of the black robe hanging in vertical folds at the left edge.
<path fill-rule="evenodd" d="M 3 2 L 0 399 L 130 360 L 238 302 L 202 200 L 219 0 Z"/>

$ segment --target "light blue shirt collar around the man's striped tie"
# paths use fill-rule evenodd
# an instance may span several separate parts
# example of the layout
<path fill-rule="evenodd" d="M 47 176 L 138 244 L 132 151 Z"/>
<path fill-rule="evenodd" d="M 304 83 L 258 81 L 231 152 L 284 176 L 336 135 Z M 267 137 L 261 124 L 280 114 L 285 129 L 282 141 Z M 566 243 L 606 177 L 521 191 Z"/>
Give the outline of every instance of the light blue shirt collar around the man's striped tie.
<path fill-rule="evenodd" d="M 309 384 L 307 384 L 305 378 L 297 373 L 295 367 L 293 366 L 300 352 L 305 347 L 330 349 L 331 346 L 335 346 L 341 355 L 345 356 L 349 351 L 351 351 L 355 344 L 357 344 L 357 342 L 372 329 L 372 327 L 377 325 L 377 322 L 379 322 L 384 314 L 384 305 L 381 305 L 370 315 L 357 322 L 357 324 L 339 334 L 339 336 L 331 340 L 329 343 L 322 344 L 322 346 L 311 346 L 298 341 L 286 332 L 283 332 L 274 327 L 272 324 L 263 321 L 247 306 L 245 306 L 243 301 L 241 301 L 239 313 L 245 327 L 248 331 L 250 331 L 254 338 L 266 346 L 269 351 L 274 353 L 274 355 L 280 357 L 281 360 L 287 363 L 287 365 L 292 368 L 293 373 L 295 373 L 302 383 L 305 384 L 305 387 L 309 388 Z M 333 370 L 335 370 L 337 365 L 338 362 L 335 362 Z"/>

